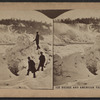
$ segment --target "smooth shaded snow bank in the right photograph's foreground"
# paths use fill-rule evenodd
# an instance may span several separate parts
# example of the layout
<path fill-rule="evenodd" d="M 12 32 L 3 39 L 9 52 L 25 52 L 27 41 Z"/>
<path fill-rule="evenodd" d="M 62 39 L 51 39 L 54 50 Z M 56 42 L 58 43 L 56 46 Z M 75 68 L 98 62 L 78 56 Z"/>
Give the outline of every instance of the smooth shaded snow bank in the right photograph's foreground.
<path fill-rule="evenodd" d="M 54 56 L 54 83 L 61 85 L 79 79 L 87 79 L 93 74 L 87 69 L 84 56 L 77 52 L 62 59 Z"/>

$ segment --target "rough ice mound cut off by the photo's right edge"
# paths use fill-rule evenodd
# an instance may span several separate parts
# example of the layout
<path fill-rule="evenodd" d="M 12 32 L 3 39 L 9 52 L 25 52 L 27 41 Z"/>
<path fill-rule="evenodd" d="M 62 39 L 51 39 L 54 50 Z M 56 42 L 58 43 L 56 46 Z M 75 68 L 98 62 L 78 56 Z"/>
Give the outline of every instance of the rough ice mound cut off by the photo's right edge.
<path fill-rule="evenodd" d="M 96 36 L 93 47 L 85 50 L 85 57 L 87 68 L 97 75 L 100 70 L 100 35 Z"/>

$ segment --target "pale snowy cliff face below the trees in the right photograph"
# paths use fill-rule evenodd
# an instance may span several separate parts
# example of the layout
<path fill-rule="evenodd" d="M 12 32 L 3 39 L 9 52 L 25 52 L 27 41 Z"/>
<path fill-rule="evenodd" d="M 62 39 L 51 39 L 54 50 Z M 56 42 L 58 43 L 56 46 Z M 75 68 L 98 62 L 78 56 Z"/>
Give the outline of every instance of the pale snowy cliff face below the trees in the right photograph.
<path fill-rule="evenodd" d="M 54 35 L 62 43 L 92 43 L 97 34 L 100 34 L 100 25 L 93 24 L 65 24 L 54 23 Z M 55 38 L 55 44 L 56 43 Z"/>

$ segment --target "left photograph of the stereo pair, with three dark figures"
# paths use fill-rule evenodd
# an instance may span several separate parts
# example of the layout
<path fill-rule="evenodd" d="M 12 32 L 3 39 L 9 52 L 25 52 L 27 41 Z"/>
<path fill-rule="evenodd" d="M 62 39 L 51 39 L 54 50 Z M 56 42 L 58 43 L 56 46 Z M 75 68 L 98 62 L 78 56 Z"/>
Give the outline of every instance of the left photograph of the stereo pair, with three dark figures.
<path fill-rule="evenodd" d="M 38 11 L 0 11 L 0 88 L 53 88 L 53 20 Z"/>

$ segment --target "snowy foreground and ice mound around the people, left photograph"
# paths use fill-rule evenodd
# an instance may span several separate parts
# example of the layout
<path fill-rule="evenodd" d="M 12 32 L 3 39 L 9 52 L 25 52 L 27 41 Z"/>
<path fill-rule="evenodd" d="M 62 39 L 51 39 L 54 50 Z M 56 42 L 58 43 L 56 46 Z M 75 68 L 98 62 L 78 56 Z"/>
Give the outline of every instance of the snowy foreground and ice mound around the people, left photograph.
<path fill-rule="evenodd" d="M 46 39 L 46 40 L 45 40 Z M 0 88 L 22 88 L 22 89 L 51 89 L 52 88 L 52 40 L 45 38 L 40 40 L 41 49 L 36 50 L 36 44 L 27 34 L 19 35 L 15 45 L 6 49 L 0 57 Z M 49 43 L 49 44 L 48 44 Z M 36 72 L 36 79 L 30 72 L 26 76 L 28 69 L 28 59 L 31 57 L 39 65 L 40 52 L 46 57 L 44 71 Z M 48 80 L 49 79 L 49 80 Z"/>

